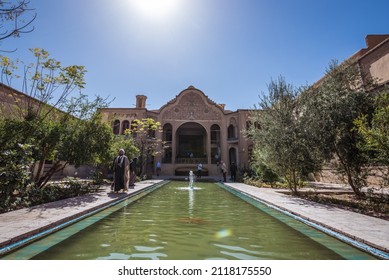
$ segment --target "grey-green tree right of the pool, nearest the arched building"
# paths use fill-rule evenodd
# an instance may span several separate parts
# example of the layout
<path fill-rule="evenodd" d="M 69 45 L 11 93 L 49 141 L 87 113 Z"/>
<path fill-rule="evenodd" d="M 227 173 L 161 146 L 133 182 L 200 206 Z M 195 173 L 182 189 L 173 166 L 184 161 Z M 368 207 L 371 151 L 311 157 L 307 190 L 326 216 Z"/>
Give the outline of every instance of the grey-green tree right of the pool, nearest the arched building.
<path fill-rule="evenodd" d="M 271 81 L 268 89 L 259 110 L 251 114 L 251 122 L 257 125 L 251 126 L 247 135 L 254 142 L 257 164 L 275 172 L 297 194 L 301 181 L 317 170 L 319 162 L 312 156 L 307 130 L 301 125 L 299 91 L 283 77 Z"/>

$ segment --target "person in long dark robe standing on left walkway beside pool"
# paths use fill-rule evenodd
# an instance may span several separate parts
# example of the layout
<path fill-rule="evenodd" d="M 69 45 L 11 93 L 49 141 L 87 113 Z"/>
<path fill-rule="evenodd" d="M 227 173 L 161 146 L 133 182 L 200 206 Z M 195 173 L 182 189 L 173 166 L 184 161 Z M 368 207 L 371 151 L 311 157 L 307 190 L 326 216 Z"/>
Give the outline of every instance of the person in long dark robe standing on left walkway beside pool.
<path fill-rule="evenodd" d="M 120 149 L 118 156 L 113 161 L 113 189 L 115 193 L 120 190 L 128 191 L 129 163 L 124 150 Z"/>

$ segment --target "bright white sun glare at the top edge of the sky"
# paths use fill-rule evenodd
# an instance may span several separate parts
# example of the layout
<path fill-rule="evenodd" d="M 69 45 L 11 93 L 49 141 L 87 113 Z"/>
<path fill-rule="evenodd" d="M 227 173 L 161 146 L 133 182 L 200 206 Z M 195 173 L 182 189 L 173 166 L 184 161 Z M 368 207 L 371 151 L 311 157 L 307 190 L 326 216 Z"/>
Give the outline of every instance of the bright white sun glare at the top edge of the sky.
<path fill-rule="evenodd" d="M 144 17 L 165 19 L 177 9 L 180 0 L 131 0 L 131 6 Z"/>

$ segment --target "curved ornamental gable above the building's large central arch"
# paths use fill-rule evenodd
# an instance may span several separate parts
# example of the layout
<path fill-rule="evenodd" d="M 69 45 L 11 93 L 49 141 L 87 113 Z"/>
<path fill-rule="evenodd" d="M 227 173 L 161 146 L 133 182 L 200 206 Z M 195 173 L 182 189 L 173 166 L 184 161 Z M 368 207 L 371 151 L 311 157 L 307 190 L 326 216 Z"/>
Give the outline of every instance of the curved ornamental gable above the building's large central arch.
<path fill-rule="evenodd" d="M 176 105 L 168 107 L 162 115 L 166 120 L 220 120 L 220 109 L 210 106 L 196 92 L 185 93 Z"/>

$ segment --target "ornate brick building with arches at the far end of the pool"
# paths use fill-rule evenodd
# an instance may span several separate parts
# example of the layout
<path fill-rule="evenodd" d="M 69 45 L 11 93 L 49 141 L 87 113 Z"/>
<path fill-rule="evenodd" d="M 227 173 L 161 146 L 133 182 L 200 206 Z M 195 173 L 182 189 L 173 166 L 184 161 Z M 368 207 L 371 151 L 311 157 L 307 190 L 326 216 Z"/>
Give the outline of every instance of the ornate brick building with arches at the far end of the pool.
<path fill-rule="evenodd" d="M 251 142 L 244 137 L 249 110 L 228 111 L 202 91 L 188 87 L 158 110 L 148 110 L 144 95 L 137 96 L 136 108 L 102 109 L 105 121 L 114 133 L 123 134 L 134 119 L 152 118 L 161 123 L 156 137 L 165 144 L 164 152 L 154 162 L 163 164 L 162 175 L 179 174 L 180 170 L 196 170 L 201 162 L 209 175 L 218 175 L 217 162 L 227 166 L 235 162 L 247 167 Z"/>

